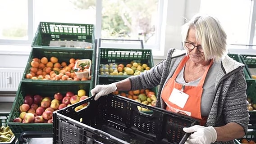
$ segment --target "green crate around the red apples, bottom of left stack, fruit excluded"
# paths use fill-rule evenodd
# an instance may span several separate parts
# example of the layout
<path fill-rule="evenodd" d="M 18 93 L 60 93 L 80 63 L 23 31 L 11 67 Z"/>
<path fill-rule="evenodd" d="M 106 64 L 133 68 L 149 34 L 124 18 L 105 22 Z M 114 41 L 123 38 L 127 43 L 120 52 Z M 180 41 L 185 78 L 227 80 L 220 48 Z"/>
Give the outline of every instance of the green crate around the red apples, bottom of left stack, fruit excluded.
<path fill-rule="evenodd" d="M 83 89 L 86 91 L 86 95 L 91 96 L 90 90 L 92 89 L 92 83 L 38 83 L 21 81 L 19 84 L 16 97 L 14 99 L 13 106 L 11 108 L 10 117 L 8 119 L 8 126 L 13 131 L 16 137 L 19 137 L 23 131 L 52 131 L 52 123 L 19 123 L 13 122 L 16 117 L 19 117 L 19 106 L 23 104 L 23 100 L 26 94 L 39 94 L 42 97 L 50 97 L 54 99 L 54 94 L 60 92 L 65 94 L 68 91 L 77 94 L 78 90 Z"/>

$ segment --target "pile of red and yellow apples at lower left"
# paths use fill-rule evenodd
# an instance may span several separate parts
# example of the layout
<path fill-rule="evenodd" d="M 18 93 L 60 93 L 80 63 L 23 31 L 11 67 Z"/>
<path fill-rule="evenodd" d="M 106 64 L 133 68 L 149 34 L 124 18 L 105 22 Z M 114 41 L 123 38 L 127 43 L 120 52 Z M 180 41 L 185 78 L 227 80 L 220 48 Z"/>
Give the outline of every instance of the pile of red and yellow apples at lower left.
<path fill-rule="evenodd" d="M 19 117 L 16 117 L 13 121 L 22 123 L 52 123 L 52 112 L 87 98 L 86 91 L 82 89 L 78 90 L 78 94 L 74 94 L 71 91 L 66 92 L 65 95 L 60 92 L 55 93 L 54 99 L 38 94 L 33 96 L 27 94 L 24 97 L 23 104 L 19 107 Z M 87 103 L 82 104 L 76 107 L 75 111 L 85 108 L 86 106 Z"/>

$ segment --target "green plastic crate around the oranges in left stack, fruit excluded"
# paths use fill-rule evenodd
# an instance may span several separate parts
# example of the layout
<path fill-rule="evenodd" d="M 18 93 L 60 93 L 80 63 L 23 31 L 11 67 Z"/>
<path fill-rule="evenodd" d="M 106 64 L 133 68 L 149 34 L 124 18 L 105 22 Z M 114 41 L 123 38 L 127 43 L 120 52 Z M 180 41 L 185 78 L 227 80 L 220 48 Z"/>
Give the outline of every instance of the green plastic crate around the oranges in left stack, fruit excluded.
<path fill-rule="evenodd" d="M 41 81 L 41 82 L 57 82 L 57 83 L 65 83 L 65 82 L 70 82 L 70 81 L 52 81 L 52 80 L 32 80 L 32 79 L 27 79 L 26 74 L 30 72 L 31 68 L 31 62 L 33 58 L 43 58 L 46 57 L 48 60 L 50 57 L 56 57 L 58 58 L 59 62 L 66 62 L 67 64 L 69 63 L 70 58 L 75 58 L 75 59 L 91 59 L 91 80 L 89 81 L 73 81 L 73 82 L 94 82 L 94 75 L 95 75 L 95 50 L 93 49 L 53 49 L 51 47 L 49 48 L 41 48 L 41 47 L 33 47 L 32 51 L 30 52 L 29 58 L 27 60 L 27 66 L 25 68 L 25 71 L 23 73 L 23 81 Z"/>

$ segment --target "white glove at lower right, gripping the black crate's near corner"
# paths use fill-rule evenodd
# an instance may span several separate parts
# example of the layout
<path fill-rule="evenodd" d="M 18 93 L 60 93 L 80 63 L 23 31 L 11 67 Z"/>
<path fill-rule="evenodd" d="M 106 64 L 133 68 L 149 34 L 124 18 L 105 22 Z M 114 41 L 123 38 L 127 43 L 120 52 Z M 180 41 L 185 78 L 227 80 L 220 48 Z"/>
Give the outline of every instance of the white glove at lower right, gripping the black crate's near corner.
<path fill-rule="evenodd" d="M 185 144 L 211 144 L 217 139 L 217 132 L 212 126 L 191 126 L 184 127 L 183 131 L 187 133 L 192 133 Z"/>

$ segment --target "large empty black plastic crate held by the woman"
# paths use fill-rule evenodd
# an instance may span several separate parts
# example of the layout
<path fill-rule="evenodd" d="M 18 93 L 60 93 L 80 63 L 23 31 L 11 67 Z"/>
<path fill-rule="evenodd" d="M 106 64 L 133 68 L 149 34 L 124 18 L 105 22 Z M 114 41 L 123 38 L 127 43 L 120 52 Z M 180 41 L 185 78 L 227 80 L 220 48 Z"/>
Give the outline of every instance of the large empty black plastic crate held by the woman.
<path fill-rule="evenodd" d="M 78 112 L 76 106 L 89 103 Z M 152 114 L 139 112 L 137 106 Z M 54 112 L 53 144 L 182 144 L 182 130 L 198 124 L 188 116 L 150 107 L 118 95 L 94 96 Z M 184 137 L 184 138 L 183 138 Z"/>

